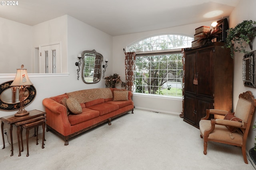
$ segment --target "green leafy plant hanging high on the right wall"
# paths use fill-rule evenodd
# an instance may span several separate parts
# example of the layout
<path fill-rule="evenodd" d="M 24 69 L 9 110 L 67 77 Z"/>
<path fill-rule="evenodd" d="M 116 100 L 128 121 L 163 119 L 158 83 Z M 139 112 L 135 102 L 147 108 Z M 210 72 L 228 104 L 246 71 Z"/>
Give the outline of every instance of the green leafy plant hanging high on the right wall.
<path fill-rule="evenodd" d="M 240 24 L 237 24 L 234 28 L 227 30 L 228 36 L 224 47 L 230 48 L 230 55 L 234 58 L 234 52 L 242 52 L 244 54 L 249 53 L 246 51 L 246 44 L 249 44 L 252 50 L 252 41 L 256 36 L 256 22 L 252 20 L 244 20 Z M 234 45 L 236 44 L 236 47 Z"/>

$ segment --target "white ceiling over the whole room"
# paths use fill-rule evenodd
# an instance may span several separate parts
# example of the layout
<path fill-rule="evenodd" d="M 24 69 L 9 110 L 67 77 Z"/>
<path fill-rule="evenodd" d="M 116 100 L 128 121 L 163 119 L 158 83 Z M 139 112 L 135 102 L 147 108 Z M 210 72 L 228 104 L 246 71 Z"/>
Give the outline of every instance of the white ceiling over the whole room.
<path fill-rule="evenodd" d="M 0 17 L 34 26 L 67 14 L 107 34 L 118 36 L 220 20 L 228 17 L 239 1 L 19 0 L 17 6 L 1 5 Z M 204 17 L 204 14 L 215 10 L 222 10 L 223 14 Z"/>

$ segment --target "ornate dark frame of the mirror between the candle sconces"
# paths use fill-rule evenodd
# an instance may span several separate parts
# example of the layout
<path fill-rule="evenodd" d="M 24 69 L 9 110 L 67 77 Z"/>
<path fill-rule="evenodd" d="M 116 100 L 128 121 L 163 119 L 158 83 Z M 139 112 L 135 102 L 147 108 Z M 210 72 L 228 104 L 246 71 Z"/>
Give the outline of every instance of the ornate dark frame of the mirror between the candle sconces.
<path fill-rule="evenodd" d="M 98 56 L 98 57 L 100 57 L 99 58 L 99 63 L 98 63 L 98 67 L 95 65 L 95 63 L 94 63 L 94 71 L 95 71 L 95 69 L 99 69 L 99 73 L 100 73 L 100 76 L 99 76 L 99 79 L 98 79 L 98 81 L 92 81 L 92 82 L 88 82 L 88 81 L 85 81 L 85 78 L 86 77 L 84 77 L 84 67 L 85 67 L 85 65 L 84 65 L 84 55 L 86 54 L 86 53 L 91 53 L 91 54 L 94 54 L 94 55 L 96 55 L 96 57 Z M 98 53 L 98 52 L 96 52 L 96 50 L 95 49 L 93 49 L 93 50 L 86 50 L 86 51 L 83 51 L 82 52 L 82 61 L 83 61 L 83 69 L 82 69 L 82 80 L 84 81 L 84 83 L 86 83 L 86 84 L 93 84 L 93 83 L 98 83 L 99 81 L 100 81 L 100 79 L 101 79 L 101 65 L 102 65 L 102 61 L 103 61 L 103 55 L 101 54 L 101 53 Z"/>

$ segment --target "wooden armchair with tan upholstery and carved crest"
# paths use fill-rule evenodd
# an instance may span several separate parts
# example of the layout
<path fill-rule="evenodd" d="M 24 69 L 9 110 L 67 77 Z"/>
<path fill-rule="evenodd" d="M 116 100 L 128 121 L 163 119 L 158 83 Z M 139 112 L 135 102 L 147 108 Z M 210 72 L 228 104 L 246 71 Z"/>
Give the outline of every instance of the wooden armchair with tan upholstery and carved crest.
<path fill-rule="evenodd" d="M 239 95 L 235 113 L 217 109 L 206 109 L 206 117 L 199 122 L 200 137 L 204 139 L 204 154 L 207 154 L 207 142 L 220 142 L 240 146 L 244 162 L 248 164 L 246 158 L 246 139 L 250 129 L 256 99 L 252 92 L 246 91 Z M 224 119 L 211 119 L 210 114 L 223 115 Z"/>

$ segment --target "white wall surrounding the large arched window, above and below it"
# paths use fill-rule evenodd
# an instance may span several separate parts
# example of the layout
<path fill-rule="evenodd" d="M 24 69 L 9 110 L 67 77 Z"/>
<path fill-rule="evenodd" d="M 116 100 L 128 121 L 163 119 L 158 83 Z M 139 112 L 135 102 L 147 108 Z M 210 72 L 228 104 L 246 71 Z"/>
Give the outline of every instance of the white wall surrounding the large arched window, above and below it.
<path fill-rule="evenodd" d="M 121 76 L 122 81 L 125 81 L 125 69 L 124 69 L 124 51 L 129 45 L 138 42 L 142 39 L 164 34 L 179 34 L 184 36 L 194 37 L 195 29 L 200 26 L 211 26 L 211 22 L 202 22 L 196 24 L 190 24 L 185 26 L 178 26 L 148 32 L 139 32 L 136 34 L 127 34 L 122 36 L 113 37 L 113 73 L 118 73 Z M 182 99 L 170 98 L 170 97 L 147 97 L 143 95 L 134 94 L 134 105 L 137 108 L 148 109 L 152 111 L 159 111 L 164 113 L 180 114 L 182 112 Z"/>

